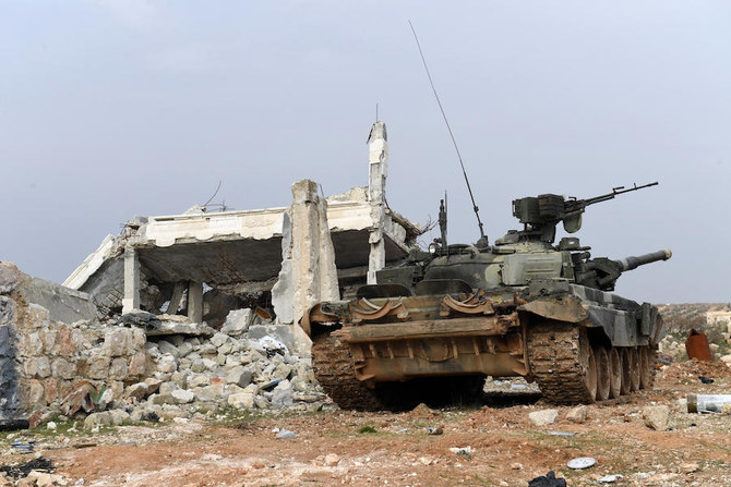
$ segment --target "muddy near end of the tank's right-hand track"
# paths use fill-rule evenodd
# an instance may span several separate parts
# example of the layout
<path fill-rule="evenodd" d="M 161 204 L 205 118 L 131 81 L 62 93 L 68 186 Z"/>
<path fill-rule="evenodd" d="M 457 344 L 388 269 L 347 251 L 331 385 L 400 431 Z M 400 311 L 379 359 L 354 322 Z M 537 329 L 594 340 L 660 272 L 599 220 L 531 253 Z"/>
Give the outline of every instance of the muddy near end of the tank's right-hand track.
<path fill-rule="evenodd" d="M 595 401 L 597 364 L 584 327 L 563 321 L 537 322 L 528 330 L 527 351 L 530 374 L 547 401 Z"/>

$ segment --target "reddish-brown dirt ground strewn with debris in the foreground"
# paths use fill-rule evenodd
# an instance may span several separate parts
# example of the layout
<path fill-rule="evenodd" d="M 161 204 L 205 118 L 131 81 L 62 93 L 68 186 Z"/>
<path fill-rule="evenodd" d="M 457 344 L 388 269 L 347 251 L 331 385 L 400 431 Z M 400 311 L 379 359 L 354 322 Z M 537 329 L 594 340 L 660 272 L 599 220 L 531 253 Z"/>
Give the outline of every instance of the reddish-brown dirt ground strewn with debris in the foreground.
<path fill-rule="evenodd" d="M 698 376 L 715 379 L 702 383 Z M 502 390 L 502 391 L 501 391 Z M 532 426 L 528 414 L 552 407 L 525 386 L 502 383 L 483 405 L 407 413 L 327 411 L 292 415 L 236 415 L 101 431 L 0 436 L 0 464 L 27 461 L 11 453 L 13 439 L 36 450 L 69 485 L 93 486 L 527 486 L 549 471 L 568 486 L 731 486 L 731 416 L 688 414 L 687 393 L 731 393 L 731 368 L 687 362 L 667 366 L 652 391 L 588 406 L 583 424 L 565 418 Z M 647 405 L 670 405 L 671 429 L 656 431 L 642 417 Z M 276 438 L 275 428 L 296 436 Z M 430 435 L 428 428 L 441 428 Z M 556 435 L 559 431 L 563 435 Z M 568 436 L 571 434 L 571 436 Z M 466 447 L 470 447 L 467 449 Z M 455 450 L 462 449 L 462 450 Z M 455 452 L 456 451 L 456 452 Z M 38 454 L 37 454 L 38 455 Z M 595 466 L 566 463 L 592 456 Z M 82 480 L 83 479 L 83 480 Z"/>

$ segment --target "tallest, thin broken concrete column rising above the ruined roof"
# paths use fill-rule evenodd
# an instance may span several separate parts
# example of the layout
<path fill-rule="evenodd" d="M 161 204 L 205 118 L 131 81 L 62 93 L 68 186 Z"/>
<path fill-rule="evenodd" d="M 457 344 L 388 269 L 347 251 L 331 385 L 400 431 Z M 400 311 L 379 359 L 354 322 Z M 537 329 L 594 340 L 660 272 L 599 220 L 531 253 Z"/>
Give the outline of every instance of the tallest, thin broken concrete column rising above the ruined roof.
<path fill-rule="evenodd" d="M 373 227 L 369 235 L 368 283 L 375 284 L 375 272 L 386 265 L 386 248 L 383 227 L 386 215 L 386 176 L 388 173 L 388 143 L 386 124 L 375 122 L 368 136 L 369 182 L 368 196 L 371 204 Z"/>

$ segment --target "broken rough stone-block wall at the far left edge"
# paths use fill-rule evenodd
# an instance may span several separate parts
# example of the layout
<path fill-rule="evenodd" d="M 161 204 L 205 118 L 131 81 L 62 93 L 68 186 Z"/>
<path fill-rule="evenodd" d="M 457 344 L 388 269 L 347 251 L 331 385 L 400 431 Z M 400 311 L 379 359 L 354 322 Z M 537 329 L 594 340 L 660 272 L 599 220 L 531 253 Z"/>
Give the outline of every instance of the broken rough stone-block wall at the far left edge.
<path fill-rule="evenodd" d="M 1 418 L 59 403 L 81 380 L 104 381 L 121 394 L 144 377 L 144 330 L 101 327 L 87 295 L 10 263 L 0 263 L 0 276 Z"/>

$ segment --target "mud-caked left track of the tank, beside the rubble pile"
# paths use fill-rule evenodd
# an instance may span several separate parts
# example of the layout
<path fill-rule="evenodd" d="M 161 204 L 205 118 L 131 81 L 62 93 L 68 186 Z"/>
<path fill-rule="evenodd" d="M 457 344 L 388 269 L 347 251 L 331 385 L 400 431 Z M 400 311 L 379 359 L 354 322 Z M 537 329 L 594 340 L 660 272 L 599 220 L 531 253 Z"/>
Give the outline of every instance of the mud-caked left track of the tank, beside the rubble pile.
<path fill-rule="evenodd" d="M 312 343 L 314 375 L 331 399 L 344 410 L 385 409 L 375 391 L 356 378 L 348 345 L 332 334 L 320 334 Z"/>

